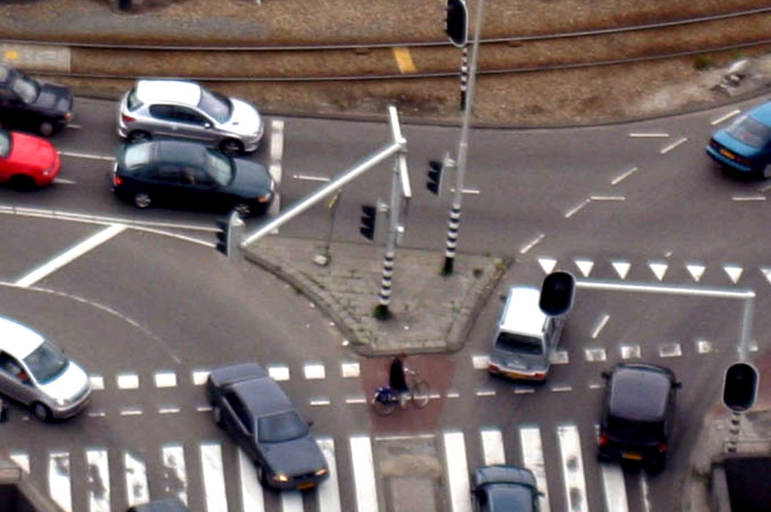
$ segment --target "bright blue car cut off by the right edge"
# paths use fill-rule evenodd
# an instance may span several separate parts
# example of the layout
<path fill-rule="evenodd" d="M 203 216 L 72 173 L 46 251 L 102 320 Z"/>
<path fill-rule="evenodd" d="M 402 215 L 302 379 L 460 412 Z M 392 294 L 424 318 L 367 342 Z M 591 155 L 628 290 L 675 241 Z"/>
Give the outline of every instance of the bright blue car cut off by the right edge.
<path fill-rule="evenodd" d="M 705 149 L 725 169 L 771 178 L 771 101 L 716 131 Z"/>

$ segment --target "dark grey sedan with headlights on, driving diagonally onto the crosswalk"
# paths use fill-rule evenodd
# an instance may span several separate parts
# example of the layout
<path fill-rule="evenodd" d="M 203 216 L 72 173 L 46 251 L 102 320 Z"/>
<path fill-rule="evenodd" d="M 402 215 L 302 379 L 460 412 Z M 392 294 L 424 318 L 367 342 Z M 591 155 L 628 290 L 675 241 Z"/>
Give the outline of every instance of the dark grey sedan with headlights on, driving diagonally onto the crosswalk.
<path fill-rule="evenodd" d="M 214 370 L 206 393 L 214 423 L 251 456 L 264 486 L 309 489 L 328 477 L 322 450 L 309 432 L 310 423 L 260 365 L 243 363 Z"/>

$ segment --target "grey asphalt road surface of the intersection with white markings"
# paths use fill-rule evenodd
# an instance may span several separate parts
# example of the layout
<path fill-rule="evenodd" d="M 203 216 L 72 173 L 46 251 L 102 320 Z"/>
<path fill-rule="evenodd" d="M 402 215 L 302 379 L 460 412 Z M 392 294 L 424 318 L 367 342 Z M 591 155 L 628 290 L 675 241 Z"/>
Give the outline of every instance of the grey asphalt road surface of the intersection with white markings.
<path fill-rule="evenodd" d="M 629 125 L 473 130 L 466 188 L 478 193 L 464 196 L 461 253 L 516 257 L 501 292 L 513 283 L 537 285 L 544 266 L 554 265 L 589 279 L 753 288 L 756 312 L 763 312 L 768 261 L 758 241 L 769 216 L 767 184 L 722 176 L 702 149 L 713 120 L 751 103 Z M 226 264 L 210 247 L 217 214 L 136 211 L 109 193 L 109 157 L 118 143 L 114 111 L 112 103 L 78 103 L 79 127 L 53 141 L 63 154 L 60 183 L 23 194 L 0 189 L 0 234 L 9 241 L 0 246 L 2 314 L 51 335 L 103 386 L 88 413 L 72 421 L 42 425 L 15 408 L 3 426 L 0 446 L 26 460 L 32 477 L 69 510 L 121 510 L 167 493 L 183 493 L 191 510 L 226 510 L 224 503 L 242 510 L 247 470 L 211 424 L 197 382 L 200 372 L 244 359 L 286 377 L 282 384 L 315 419 L 315 432 L 334 440 L 342 510 L 368 510 L 372 470 L 382 510 L 408 510 L 399 508 L 400 497 L 420 494 L 430 502 L 425 510 L 460 512 L 467 504 L 464 471 L 501 457 L 544 467 L 549 510 L 612 510 L 621 490 L 629 510 L 676 509 L 698 419 L 717 396 L 722 369 L 736 358 L 742 313 L 736 301 L 580 291 L 564 334 L 567 362 L 533 389 L 475 367 L 500 312 L 493 300 L 462 352 L 412 362 L 442 399 L 424 411 L 374 418 L 362 400 L 384 381 L 385 363 L 359 360 L 328 320 L 280 281 Z M 389 138 L 385 117 L 383 123 L 283 121 L 281 207 L 318 187 L 308 177 L 332 177 Z M 406 247 L 443 248 L 449 194 L 437 199 L 423 183 L 427 160 L 455 147 L 459 131 L 404 127 L 415 191 Z M 254 158 L 268 160 L 269 137 Z M 345 188 L 336 237 L 359 239 L 359 207 L 387 196 L 389 166 Z M 62 212 L 89 217 L 62 220 Z M 19 285 L 106 229 L 83 221 L 105 217 L 167 235 L 120 231 L 65 267 Z M 327 211 L 319 206 L 281 234 L 322 238 L 327 227 Z M 756 315 L 761 345 L 768 328 L 764 315 Z M 658 477 L 614 472 L 594 460 L 599 374 L 621 360 L 622 347 L 668 365 L 684 382 L 670 468 Z M 409 439 L 392 439 L 402 434 Z M 376 467 L 361 466 L 362 440 L 369 441 Z M 399 442 L 401 448 L 391 444 Z M 407 453 L 423 458 L 397 460 L 394 470 L 389 462 L 405 443 Z M 463 456 L 453 451 L 459 444 Z M 527 446 L 538 446 L 540 459 Z M 227 483 L 213 480 L 212 468 L 221 468 Z M 412 481 L 411 493 L 399 491 L 405 480 Z M 420 486 L 432 492 L 415 492 Z M 267 492 L 265 509 L 335 510 L 329 492 Z"/>

